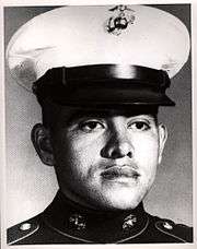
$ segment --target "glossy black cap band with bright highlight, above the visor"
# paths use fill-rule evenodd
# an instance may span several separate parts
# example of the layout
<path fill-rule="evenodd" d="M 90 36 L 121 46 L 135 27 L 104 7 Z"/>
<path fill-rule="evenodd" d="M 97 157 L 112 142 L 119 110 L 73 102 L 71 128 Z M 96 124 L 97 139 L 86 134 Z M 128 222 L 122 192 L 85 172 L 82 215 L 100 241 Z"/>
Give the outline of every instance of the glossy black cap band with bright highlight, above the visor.
<path fill-rule="evenodd" d="M 129 85 L 131 80 L 139 81 L 160 88 L 166 88 L 171 83 L 167 73 L 162 70 L 139 66 L 94 64 L 50 69 L 36 81 L 36 85 L 59 83 L 69 86 L 70 82 L 80 84 L 85 81 L 85 83 L 90 82 L 95 86 L 95 82 L 101 84 L 102 81 L 107 82 L 108 80 L 129 80 Z"/>

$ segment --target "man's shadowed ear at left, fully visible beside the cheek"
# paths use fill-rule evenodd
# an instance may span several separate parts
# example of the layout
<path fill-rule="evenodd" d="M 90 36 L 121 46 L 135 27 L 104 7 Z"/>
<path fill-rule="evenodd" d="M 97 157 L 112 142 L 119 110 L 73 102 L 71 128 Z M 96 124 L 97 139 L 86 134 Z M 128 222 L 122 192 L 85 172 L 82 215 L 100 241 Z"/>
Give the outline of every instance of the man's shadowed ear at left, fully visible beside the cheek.
<path fill-rule="evenodd" d="M 48 166 L 53 166 L 55 159 L 48 129 L 42 123 L 37 123 L 32 129 L 31 138 L 42 162 Z"/>

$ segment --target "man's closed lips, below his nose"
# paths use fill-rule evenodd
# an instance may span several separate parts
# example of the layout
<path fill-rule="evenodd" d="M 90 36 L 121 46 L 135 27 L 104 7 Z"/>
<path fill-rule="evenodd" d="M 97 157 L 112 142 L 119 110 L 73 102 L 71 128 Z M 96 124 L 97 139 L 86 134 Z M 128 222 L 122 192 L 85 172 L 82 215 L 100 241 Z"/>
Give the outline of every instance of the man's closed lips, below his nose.
<path fill-rule="evenodd" d="M 112 180 L 116 178 L 134 178 L 137 179 L 140 175 L 130 166 L 112 166 L 101 173 L 101 176 L 105 179 Z"/>

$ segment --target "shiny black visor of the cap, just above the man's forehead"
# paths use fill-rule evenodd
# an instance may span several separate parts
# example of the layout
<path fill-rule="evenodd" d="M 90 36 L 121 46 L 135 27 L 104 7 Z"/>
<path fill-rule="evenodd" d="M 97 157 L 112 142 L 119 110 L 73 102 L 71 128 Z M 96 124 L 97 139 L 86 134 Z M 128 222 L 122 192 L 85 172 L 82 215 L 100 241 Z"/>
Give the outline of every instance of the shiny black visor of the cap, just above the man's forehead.
<path fill-rule="evenodd" d="M 50 95 L 51 100 L 61 105 L 88 107 L 118 107 L 134 105 L 175 106 L 165 94 L 144 88 L 78 88 L 72 93 L 58 93 Z"/>

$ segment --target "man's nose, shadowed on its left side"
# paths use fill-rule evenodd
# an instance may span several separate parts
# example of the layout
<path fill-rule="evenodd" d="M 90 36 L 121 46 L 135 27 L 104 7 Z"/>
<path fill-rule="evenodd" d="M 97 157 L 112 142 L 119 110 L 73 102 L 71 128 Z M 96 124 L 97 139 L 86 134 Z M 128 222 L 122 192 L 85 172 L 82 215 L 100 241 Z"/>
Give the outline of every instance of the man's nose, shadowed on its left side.
<path fill-rule="evenodd" d="M 101 155 L 105 158 L 117 159 L 125 156 L 132 157 L 134 147 L 126 132 L 113 132 L 101 151 Z"/>

